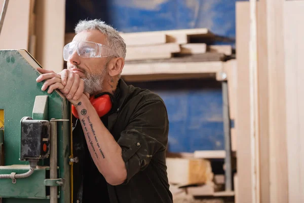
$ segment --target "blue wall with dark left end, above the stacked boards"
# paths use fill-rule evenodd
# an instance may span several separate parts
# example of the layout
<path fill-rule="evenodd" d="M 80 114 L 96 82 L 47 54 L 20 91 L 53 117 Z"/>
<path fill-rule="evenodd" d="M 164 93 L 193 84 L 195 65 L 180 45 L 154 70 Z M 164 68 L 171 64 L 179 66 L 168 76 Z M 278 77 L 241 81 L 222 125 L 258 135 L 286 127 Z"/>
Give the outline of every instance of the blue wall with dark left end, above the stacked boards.
<path fill-rule="evenodd" d="M 100 18 L 123 32 L 209 28 L 235 39 L 236 1 L 66 0 L 66 31 L 81 19 Z"/>

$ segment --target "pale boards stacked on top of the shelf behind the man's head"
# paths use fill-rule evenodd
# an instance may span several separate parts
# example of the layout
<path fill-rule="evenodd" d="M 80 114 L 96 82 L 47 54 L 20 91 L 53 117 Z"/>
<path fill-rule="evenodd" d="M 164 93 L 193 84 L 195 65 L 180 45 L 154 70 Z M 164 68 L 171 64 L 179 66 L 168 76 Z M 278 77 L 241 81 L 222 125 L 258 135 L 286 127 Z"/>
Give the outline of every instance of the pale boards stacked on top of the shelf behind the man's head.
<path fill-rule="evenodd" d="M 121 36 L 127 45 L 126 61 L 169 59 L 207 52 L 232 54 L 231 46 L 207 45 L 215 36 L 206 28 L 121 33 Z"/>

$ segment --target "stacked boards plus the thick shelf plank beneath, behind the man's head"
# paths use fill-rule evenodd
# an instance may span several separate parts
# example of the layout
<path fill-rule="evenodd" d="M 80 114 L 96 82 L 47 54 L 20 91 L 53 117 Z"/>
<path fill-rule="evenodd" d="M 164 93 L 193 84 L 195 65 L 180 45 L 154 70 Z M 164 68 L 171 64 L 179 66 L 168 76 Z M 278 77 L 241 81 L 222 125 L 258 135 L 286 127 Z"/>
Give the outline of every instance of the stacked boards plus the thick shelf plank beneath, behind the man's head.
<path fill-rule="evenodd" d="M 211 45 L 216 36 L 206 28 L 121 33 L 127 45 L 122 77 L 126 81 L 188 78 L 225 80 L 229 45 Z"/>

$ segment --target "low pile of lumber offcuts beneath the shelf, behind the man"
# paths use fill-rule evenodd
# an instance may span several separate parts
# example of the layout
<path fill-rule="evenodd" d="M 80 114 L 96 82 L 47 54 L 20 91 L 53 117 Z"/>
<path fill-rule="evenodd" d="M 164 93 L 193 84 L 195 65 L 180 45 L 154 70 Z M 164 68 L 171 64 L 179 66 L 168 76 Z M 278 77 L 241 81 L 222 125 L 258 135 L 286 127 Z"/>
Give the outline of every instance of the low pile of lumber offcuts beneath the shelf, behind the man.
<path fill-rule="evenodd" d="M 213 172 L 216 171 L 216 168 L 213 168 L 216 167 L 213 159 L 223 156 L 224 151 L 206 151 L 204 155 L 167 152 L 167 174 L 173 198 L 176 200 L 186 196 L 190 198 L 233 196 L 233 191 L 231 193 L 223 191 L 224 175 Z"/>

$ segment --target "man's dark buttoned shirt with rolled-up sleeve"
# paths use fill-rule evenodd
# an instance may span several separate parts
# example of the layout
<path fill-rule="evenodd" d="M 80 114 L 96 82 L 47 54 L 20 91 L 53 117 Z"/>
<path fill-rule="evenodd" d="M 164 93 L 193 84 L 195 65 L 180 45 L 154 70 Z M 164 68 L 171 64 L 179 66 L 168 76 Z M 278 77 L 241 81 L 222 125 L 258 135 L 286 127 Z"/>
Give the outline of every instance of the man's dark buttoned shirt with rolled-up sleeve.
<path fill-rule="evenodd" d="M 112 112 L 101 118 L 122 148 L 127 180 L 105 182 L 88 151 L 80 122 L 73 128 L 74 202 L 172 202 L 166 166 L 169 121 L 164 101 L 122 79 Z M 94 199 L 94 200 L 93 200 Z"/>

